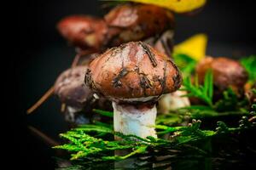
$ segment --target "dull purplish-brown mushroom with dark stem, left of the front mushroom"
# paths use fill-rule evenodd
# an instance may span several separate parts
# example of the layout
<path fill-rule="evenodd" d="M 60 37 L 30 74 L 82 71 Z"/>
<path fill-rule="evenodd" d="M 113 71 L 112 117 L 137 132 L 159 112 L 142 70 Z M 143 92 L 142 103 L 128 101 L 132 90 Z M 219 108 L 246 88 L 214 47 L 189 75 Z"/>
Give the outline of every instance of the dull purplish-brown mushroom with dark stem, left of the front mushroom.
<path fill-rule="evenodd" d="M 77 66 L 61 73 L 55 82 L 54 93 L 59 97 L 61 103 L 66 105 L 65 118 L 67 122 L 75 125 L 88 122 L 88 115 L 93 108 L 105 105 L 106 99 L 98 99 L 93 92 L 84 85 L 84 73 L 87 70 L 86 65 Z M 84 111 L 88 114 L 84 116 L 79 112 Z"/>

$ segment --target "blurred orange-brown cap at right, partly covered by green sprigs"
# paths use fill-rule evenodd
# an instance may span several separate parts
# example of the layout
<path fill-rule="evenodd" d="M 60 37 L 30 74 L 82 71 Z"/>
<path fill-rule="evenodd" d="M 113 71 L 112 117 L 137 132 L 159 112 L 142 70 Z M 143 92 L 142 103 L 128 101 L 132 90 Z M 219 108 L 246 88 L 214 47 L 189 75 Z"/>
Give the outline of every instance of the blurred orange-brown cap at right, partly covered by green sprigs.
<path fill-rule="evenodd" d="M 236 90 L 242 88 L 247 82 L 247 71 L 236 60 L 224 57 L 202 59 L 196 66 L 199 82 L 202 83 L 204 81 L 208 69 L 212 69 L 213 84 L 219 90 L 224 90 L 228 87 Z"/>

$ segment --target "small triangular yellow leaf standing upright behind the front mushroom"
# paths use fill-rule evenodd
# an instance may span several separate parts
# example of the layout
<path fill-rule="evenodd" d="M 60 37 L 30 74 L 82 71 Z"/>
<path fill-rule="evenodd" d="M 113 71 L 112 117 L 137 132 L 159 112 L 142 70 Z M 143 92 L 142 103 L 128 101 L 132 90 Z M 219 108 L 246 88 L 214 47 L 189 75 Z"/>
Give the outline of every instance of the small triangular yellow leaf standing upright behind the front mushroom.
<path fill-rule="evenodd" d="M 193 37 L 177 44 L 174 47 L 175 54 L 187 54 L 195 60 L 203 59 L 207 51 L 207 35 L 196 34 Z"/>

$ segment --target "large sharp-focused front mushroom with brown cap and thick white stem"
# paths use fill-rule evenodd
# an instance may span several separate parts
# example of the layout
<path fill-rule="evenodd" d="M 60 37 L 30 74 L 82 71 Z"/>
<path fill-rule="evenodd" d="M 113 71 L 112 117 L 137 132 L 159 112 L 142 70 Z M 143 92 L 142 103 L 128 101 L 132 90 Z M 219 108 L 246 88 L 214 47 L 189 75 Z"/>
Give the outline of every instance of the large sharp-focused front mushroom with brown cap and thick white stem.
<path fill-rule="evenodd" d="M 157 137 L 155 104 L 181 86 L 177 66 L 143 42 L 128 42 L 94 59 L 84 78 L 96 94 L 112 100 L 116 132 Z"/>

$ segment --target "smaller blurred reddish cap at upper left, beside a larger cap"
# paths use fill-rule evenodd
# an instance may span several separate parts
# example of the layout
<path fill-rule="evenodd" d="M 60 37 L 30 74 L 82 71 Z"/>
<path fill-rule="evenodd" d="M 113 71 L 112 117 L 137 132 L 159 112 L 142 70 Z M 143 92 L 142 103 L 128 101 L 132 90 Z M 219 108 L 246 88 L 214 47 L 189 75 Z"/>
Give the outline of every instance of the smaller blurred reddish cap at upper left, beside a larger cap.
<path fill-rule="evenodd" d="M 57 29 L 74 46 L 96 50 L 105 43 L 108 32 L 104 20 L 85 15 L 68 16 L 58 23 Z"/>

